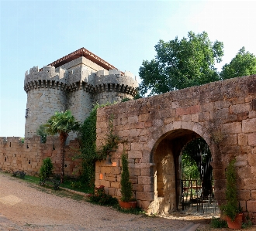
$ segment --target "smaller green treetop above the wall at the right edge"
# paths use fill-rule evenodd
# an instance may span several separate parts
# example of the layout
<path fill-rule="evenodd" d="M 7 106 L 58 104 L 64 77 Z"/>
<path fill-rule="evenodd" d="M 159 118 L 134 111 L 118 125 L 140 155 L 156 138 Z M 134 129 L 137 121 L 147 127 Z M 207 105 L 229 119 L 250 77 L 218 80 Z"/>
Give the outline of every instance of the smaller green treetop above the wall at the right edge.
<path fill-rule="evenodd" d="M 220 76 L 223 80 L 249 76 L 256 73 L 256 57 L 254 54 L 246 52 L 244 46 L 238 51 L 234 59 L 222 68 Z"/>

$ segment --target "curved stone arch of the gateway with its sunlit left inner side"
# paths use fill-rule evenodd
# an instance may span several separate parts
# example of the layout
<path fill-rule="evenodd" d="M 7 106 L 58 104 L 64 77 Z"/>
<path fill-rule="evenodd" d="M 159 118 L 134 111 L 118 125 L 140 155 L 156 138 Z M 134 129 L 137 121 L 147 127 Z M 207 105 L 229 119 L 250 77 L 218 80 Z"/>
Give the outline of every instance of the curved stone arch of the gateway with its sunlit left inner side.
<path fill-rule="evenodd" d="M 170 213 L 178 209 L 178 158 L 185 144 L 201 137 L 214 152 L 211 136 L 206 129 L 196 123 L 190 123 L 190 127 L 185 127 L 182 122 L 180 124 L 180 127 L 162 134 L 150 153 L 150 160 L 154 163 L 154 202 L 150 203 L 149 208 L 153 213 Z"/>

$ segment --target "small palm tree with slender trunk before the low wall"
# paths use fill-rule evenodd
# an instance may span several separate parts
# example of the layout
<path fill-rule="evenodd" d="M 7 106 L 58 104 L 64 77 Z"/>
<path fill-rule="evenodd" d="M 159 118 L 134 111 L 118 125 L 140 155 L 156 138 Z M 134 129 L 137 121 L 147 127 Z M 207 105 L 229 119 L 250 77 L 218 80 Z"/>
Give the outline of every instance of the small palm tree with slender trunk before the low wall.
<path fill-rule="evenodd" d="M 71 114 L 71 110 L 66 110 L 65 112 L 55 112 L 55 114 L 50 117 L 47 124 L 43 125 L 46 127 L 47 134 L 60 135 L 61 141 L 61 183 L 64 181 L 64 158 L 65 158 L 65 141 L 67 136 L 71 131 L 78 131 L 80 124 L 75 121 L 74 116 Z"/>

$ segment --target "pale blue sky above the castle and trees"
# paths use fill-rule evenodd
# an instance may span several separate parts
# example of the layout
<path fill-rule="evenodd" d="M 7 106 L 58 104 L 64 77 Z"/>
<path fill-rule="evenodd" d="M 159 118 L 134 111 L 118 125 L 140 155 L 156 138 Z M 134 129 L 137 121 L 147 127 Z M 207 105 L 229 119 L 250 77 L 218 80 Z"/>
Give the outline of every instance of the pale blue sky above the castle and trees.
<path fill-rule="evenodd" d="M 224 43 L 223 63 L 256 54 L 256 2 L 0 0 L 0 137 L 25 133 L 26 70 L 85 47 L 138 76 L 159 39 L 206 31 Z"/>

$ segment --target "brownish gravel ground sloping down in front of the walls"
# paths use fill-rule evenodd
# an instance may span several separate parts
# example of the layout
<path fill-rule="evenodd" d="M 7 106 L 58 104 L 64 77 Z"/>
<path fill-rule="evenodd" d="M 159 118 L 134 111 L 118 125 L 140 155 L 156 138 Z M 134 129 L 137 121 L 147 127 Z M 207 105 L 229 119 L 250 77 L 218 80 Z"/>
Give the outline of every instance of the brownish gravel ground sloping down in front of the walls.
<path fill-rule="evenodd" d="M 118 212 L 92 205 L 82 195 L 54 192 L 0 172 L 0 230 L 193 231 L 209 230 L 209 225 L 198 216 L 149 217 Z"/>

